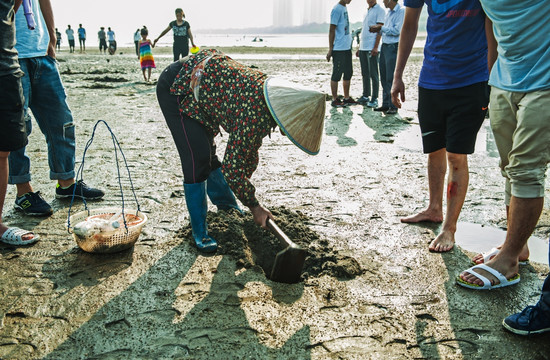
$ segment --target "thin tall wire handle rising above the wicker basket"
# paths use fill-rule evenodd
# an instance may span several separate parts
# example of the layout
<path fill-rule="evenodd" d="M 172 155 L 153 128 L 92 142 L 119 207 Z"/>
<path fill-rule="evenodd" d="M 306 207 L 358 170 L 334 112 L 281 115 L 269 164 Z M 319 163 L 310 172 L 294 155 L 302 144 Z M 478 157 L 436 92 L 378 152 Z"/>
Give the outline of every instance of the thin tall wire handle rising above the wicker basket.
<path fill-rule="evenodd" d="M 113 131 L 111 130 L 111 128 L 109 127 L 109 125 L 107 124 L 107 122 L 105 120 L 98 120 L 96 122 L 96 124 L 94 125 L 94 129 L 92 131 L 92 136 L 90 137 L 90 139 L 88 139 L 88 142 L 86 143 L 86 146 L 84 148 L 84 153 L 82 154 L 82 162 L 80 163 L 80 166 L 78 167 L 78 171 L 76 173 L 76 180 L 78 181 L 78 179 L 80 178 L 80 180 L 82 181 L 82 175 L 83 175 L 83 172 L 84 172 L 84 162 L 86 160 L 86 152 L 88 151 L 88 148 L 92 145 L 92 143 L 94 141 L 95 130 L 96 130 L 97 126 L 100 123 L 104 124 L 107 127 L 107 130 L 109 130 L 109 132 L 111 133 L 111 139 L 113 141 L 113 147 L 115 149 L 115 163 L 116 163 L 116 168 L 117 168 L 118 186 L 119 186 L 119 189 L 120 189 L 120 196 L 121 196 L 121 200 L 122 200 L 122 220 L 124 221 L 124 228 L 126 229 L 126 232 L 128 232 L 128 224 L 126 223 L 126 216 L 124 215 L 124 192 L 122 191 L 122 182 L 120 180 L 121 176 L 120 176 L 120 166 L 118 164 L 118 161 L 119 161 L 118 160 L 118 151 L 120 151 L 120 154 L 122 155 L 122 159 L 124 160 L 124 166 L 126 167 L 126 171 L 128 172 L 128 179 L 130 180 L 130 188 L 132 190 L 132 194 L 134 195 L 134 200 L 136 201 L 136 204 L 137 204 L 137 213 L 139 213 L 141 211 L 141 208 L 140 208 L 137 196 L 136 196 L 136 192 L 134 190 L 134 183 L 132 181 L 132 176 L 130 175 L 130 168 L 128 167 L 128 162 L 126 161 L 126 156 L 124 155 L 124 152 L 122 151 L 122 148 L 120 147 L 120 143 L 118 142 L 118 139 L 117 139 L 116 135 L 113 133 Z M 67 215 L 67 232 L 69 232 L 69 233 L 70 233 L 70 228 L 71 228 L 71 208 L 72 208 L 73 203 L 74 203 L 75 193 L 76 193 L 76 186 L 73 187 L 73 196 L 71 197 L 71 204 L 69 205 L 69 213 Z M 81 195 L 83 195 L 83 194 L 81 194 Z M 88 209 L 88 204 L 86 203 L 86 199 L 84 199 L 84 196 L 82 196 L 82 202 L 84 203 L 84 209 L 86 211 L 88 211 L 88 215 L 89 215 L 90 210 Z M 137 215 L 137 213 L 136 213 L 136 215 Z"/>

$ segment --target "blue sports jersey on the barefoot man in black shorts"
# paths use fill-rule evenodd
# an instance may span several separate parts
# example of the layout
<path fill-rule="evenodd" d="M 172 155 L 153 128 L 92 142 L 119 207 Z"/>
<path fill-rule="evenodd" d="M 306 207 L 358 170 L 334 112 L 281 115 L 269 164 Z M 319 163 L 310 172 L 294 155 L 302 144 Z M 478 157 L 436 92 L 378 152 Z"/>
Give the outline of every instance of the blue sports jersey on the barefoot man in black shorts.
<path fill-rule="evenodd" d="M 418 85 L 442 90 L 489 79 L 485 13 L 479 0 L 405 0 L 428 6 L 428 36 Z"/>

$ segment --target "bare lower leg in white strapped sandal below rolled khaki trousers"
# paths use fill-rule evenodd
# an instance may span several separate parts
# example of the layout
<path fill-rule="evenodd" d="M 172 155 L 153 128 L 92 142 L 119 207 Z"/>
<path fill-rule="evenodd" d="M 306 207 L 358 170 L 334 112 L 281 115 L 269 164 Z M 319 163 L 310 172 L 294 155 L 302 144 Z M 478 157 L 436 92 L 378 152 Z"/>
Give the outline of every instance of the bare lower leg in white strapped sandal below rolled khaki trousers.
<path fill-rule="evenodd" d="M 506 240 L 498 255 L 488 261 L 487 266 L 497 270 L 507 279 L 514 277 L 518 273 L 518 256 L 535 230 L 543 204 L 544 198 L 522 199 L 512 196 Z M 475 271 L 487 277 L 491 283 L 498 284 L 498 280 L 486 271 L 481 269 L 476 269 Z M 460 277 L 471 284 L 483 285 L 483 282 L 476 276 L 466 272 L 460 274 Z"/>

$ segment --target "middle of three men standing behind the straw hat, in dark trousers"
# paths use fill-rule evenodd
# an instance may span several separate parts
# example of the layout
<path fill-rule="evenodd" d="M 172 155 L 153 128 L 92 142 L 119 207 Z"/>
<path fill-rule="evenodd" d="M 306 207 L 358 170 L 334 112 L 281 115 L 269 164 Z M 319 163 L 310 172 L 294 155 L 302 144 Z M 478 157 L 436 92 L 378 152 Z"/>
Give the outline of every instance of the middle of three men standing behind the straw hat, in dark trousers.
<path fill-rule="evenodd" d="M 359 50 L 355 54 L 361 63 L 361 75 L 363 76 L 363 96 L 357 102 L 368 107 L 378 107 L 378 92 L 380 77 L 378 72 L 378 49 L 380 47 L 381 34 L 368 31 L 371 26 L 384 25 L 386 12 L 376 0 L 367 0 L 368 10 L 363 19 L 361 41 Z M 371 87 L 372 82 L 372 87 Z M 371 91 L 372 90 L 372 91 Z"/>

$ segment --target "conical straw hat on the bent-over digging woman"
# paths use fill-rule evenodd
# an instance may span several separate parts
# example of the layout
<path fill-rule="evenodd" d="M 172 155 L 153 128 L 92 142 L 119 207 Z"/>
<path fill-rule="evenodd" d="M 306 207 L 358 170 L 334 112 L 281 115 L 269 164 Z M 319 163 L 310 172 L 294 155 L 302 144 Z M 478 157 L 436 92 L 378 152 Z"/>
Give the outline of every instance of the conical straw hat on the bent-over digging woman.
<path fill-rule="evenodd" d="M 325 95 L 288 81 L 268 78 L 264 83 L 267 107 L 277 125 L 296 146 L 319 153 L 325 121 Z"/>

